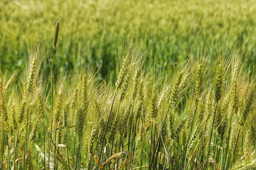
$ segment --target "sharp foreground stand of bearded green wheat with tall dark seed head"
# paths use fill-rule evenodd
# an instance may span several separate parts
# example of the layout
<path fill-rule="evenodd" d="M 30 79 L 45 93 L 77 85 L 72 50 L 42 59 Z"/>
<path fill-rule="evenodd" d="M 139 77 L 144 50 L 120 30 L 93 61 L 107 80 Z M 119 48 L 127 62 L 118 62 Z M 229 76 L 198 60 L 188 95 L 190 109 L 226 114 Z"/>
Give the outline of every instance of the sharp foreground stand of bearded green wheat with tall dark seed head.
<path fill-rule="evenodd" d="M 23 73 L 0 73 L 1 169 L 256 167 L 255 77 L 239 54 L 198 53 L 168 74 L 130 44 L 113 85 L 94 67 L 48 79 L 40 38 L 28 50 Z"/>

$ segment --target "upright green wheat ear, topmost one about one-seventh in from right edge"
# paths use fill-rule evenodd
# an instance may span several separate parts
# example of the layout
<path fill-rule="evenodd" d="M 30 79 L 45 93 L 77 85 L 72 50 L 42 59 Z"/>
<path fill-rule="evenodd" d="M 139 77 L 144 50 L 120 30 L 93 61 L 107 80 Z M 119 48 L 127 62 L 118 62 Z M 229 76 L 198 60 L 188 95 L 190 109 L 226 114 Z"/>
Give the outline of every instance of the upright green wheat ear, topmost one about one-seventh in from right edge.
<path fill-rule="evenodd" d="M 218 103 L 218 101 L 221 99 L 221 87 L 222 87 L 222 81 L 223 81 L 223 68 L 222 65 L 218 65 L 216 77 L 215 77 L 215 102 Z"/>

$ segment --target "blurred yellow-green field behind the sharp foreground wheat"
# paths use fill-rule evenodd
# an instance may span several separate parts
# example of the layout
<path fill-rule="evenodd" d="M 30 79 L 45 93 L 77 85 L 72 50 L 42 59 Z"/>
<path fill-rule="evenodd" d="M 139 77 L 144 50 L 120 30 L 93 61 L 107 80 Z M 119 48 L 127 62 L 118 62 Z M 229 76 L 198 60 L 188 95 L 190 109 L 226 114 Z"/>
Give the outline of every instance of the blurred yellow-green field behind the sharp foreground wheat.
<path fill-rule="evenodd" d="M 56 20 L 58 71 L 95 63 L 103 78 L 114 79 L 118 47 L 131 39 L 148 65 L 167 69 L 198 49 L 239 51 L 246 66 L 256 65 L 254 0 L 1 0 L 1 69 L 22 69 L 26 44 L 39 33 L 51 58 Z"/>

